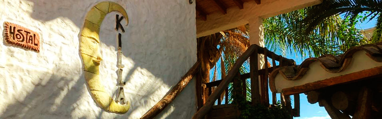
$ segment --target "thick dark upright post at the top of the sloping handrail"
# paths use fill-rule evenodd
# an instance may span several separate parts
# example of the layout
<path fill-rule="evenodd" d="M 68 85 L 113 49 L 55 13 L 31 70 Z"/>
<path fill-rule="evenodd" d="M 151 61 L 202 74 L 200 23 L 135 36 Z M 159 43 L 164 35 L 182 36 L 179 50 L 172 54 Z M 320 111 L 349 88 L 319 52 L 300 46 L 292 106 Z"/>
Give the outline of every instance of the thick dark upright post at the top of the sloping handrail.
<path fill-rule="evenodd" d="M 257 66 L 257 48 L 249 58 L 249 73 L 251 77 L 251 100 L 252 105 L 260 103 L 260 92 L 259 92 L 259 74 Z"/>

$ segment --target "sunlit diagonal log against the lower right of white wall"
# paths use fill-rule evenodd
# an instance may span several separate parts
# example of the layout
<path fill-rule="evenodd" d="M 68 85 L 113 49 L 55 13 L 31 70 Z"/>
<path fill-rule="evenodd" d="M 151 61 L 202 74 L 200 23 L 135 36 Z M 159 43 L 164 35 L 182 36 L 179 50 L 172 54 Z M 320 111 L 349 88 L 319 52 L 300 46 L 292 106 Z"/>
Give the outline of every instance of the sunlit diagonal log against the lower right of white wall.
<path fill-rule="evenodd" d="M 196 62 L 194 66 L 191 67 L 191 69 L 188 70 L 188 72 L 181 77 L 178 84 L 173 87 L 170 92 L 165 95 L 162 100 L 160 100 L 157 104 L 155 104 L 149 111 L 147 111 L 140 119 L 152 119 L 157 114 L 163 111 L 168 104 L 170 104 L 176 96 L 182 92 L 182 90 L 186 87 L 186 85 L 191 81 L 191 79 L 195 76 L 196 72 L 199 71 L 200 63 Z"/>

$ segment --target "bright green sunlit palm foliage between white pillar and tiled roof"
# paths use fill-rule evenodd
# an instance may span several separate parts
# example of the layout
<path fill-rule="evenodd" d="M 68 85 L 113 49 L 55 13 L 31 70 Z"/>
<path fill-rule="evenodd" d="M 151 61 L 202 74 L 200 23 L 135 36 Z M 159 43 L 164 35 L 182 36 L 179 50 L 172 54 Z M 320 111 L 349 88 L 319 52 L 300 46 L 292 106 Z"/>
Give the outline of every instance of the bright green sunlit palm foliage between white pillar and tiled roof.
<path fill-rule="evenodd" d="M 340 55 L 351 47 L 367 43 L 363 34 L 355 27 L 359 20 L 353 20 L 350 16 L 342 19 L 338 14 L 333 14 L 317 21 L 312 27 L 304 24 L 308 16 L 316 15 L 309 12 L 313 8 L 315 6 L 265 19 L 263 24 L 266 47 L 279 54 L 290 51 L 318 57 L 326 54 Z M 365 18 L 357 16 L 356 19 Z"/>

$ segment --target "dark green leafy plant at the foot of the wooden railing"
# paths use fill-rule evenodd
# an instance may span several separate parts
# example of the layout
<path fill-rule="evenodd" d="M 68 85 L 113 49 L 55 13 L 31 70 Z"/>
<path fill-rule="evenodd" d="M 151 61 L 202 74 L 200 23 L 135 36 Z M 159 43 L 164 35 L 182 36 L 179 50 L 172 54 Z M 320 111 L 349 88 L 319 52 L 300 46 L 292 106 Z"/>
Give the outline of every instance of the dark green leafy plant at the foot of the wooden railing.
<path fill-rule="evenodd" d="M 251 102 L 241 94 L 236 93 L 232 95 L 232 98 L 233 104 L 236 104 L 240 110 L 239 119 L 291 119 L 290 113 L 288 113 L 280 102 L 271 107 L 264 105 L 252 106 L 250 105 Z"/>

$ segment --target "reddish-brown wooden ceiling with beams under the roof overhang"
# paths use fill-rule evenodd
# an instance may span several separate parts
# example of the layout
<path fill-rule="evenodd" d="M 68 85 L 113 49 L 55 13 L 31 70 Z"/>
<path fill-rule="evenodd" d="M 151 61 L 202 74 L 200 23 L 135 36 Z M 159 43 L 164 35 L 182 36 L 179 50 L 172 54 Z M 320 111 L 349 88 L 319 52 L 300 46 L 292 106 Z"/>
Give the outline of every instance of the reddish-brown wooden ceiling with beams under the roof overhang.
<path fill-rule="evenodd" d="M 261 0 L 196 0 L 196 18 L 204 21 L 207 20 L 207 15 L 214 12 L 227 14 L 227 9 L 231 7 L 244 8 L 244 2 L 255 1 L 257 5 Z"/>

